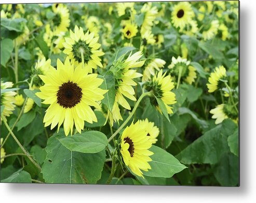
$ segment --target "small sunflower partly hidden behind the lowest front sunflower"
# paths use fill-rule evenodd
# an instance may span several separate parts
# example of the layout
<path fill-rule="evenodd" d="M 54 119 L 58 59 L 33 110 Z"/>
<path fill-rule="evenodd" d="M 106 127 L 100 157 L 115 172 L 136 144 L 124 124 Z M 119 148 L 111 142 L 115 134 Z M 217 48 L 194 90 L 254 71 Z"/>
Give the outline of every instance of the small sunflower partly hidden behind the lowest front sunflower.
<path fill-rule="evenodd" d="M 149 120 L 140 120 L 140 126 L 141 128 L 144 128 L 147 132 L 147 136 L 150 137 L 150 140 L 152 141 L 152 144 L 156 143 L 157 136 L 159 135 L 159 129 L 157 126 L 155 126 L 154 122 L 149 122 Z"/>

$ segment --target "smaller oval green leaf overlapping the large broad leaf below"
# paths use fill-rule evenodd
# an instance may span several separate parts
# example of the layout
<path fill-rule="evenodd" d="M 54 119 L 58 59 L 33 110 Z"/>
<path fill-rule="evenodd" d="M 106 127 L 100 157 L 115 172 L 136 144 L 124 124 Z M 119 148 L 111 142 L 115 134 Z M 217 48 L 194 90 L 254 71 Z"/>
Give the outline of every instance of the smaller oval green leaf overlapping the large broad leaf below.
<path fill-rule="evenodd" d="M 99 131 L 83 132 L 59 139 L 60 143 L 70 151 L 82 153 L 98 153 L 107 146 L 106 136 Z"/>

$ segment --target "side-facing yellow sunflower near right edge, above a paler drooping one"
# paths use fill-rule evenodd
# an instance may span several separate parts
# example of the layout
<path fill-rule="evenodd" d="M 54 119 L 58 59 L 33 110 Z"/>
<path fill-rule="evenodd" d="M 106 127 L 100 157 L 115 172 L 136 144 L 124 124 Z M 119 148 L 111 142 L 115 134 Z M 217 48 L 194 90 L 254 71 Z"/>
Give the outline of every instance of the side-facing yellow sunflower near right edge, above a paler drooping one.
<path fill-rule="evenodd" d="M 211 72 L 210 77 L 208 79 L 209 83 L 207 83 L 208 92 L 214 92 L 219 87 L 220 79 L 224 79 L 226 77 L 226 69 L 223 66 L 219 66 L 215 68 L 214 72 Z"/>

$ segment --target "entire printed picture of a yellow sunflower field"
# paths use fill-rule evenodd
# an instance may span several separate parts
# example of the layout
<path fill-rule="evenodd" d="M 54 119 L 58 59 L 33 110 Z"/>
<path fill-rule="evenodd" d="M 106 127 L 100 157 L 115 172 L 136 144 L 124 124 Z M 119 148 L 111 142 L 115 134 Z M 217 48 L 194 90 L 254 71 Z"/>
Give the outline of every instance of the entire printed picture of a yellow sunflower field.
<path fill-rule="evenodd" d="M 1 5 L 1 182 L 239 186 L 238 1 Z"/>

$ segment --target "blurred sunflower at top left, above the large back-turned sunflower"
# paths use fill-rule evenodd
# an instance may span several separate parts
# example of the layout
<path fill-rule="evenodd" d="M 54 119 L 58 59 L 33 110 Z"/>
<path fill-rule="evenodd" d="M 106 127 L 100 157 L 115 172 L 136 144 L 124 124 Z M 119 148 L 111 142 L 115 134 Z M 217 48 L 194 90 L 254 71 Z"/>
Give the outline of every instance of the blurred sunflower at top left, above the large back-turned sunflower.
<path fill-rule="evenodd" d="M 52 19 L 53 23 L 53 34 L 58 35 L 62 32 L 68 31 L 70 26 L 70 13 L 69 9 L 63 4 L 53 4 L 52 11 L 55 13 L 55 17 Z"/>

